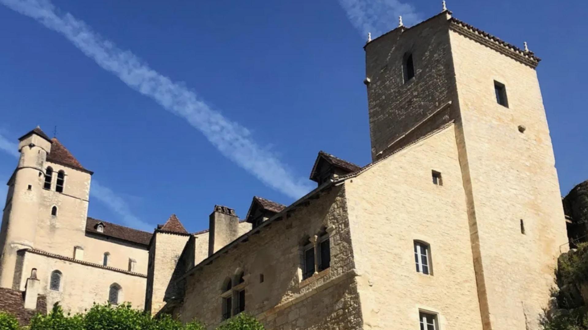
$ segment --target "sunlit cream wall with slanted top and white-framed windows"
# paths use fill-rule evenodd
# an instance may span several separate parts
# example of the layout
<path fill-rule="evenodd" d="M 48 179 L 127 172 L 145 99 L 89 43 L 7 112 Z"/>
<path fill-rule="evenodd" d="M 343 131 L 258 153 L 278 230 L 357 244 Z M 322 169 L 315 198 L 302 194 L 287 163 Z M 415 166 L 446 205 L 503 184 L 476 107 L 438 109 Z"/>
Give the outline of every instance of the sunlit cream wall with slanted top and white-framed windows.
<path fill-rule="evenodd" d="M 435 185 L 432 171 L 442 173 Z M 455 125 L 345 183 L 363 329 L 417 329 L 419 309 L 441 329 L 481 330 Z M 430 244 L 417 273 L 414 241 Z"/>

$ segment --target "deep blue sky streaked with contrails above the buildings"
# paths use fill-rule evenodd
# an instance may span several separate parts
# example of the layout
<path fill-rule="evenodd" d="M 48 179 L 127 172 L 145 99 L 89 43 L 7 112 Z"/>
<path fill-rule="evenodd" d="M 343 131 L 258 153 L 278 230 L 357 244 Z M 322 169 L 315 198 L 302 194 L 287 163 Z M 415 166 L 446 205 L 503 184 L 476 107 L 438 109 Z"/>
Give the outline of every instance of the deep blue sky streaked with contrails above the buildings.
<path fill-rule="evenodd" d="M 47 2 L 0 0 L 0 136 L 16 142 L 36 125 L 48 134 L 57 125 L 59 140 L 95 171 L 101 189 L 89 215 L 142 228 L 176 213 L 201 230 L 213 205 L 244 217 L 253 195 L 289 204 L 312 189 L 320 149 L 367 164 L 365 32 L 394 28 L 399 13 L 412 25 L 440 1 L 244 3 L 55 0 L 57 22 L 38 11 Z M 588 179 L 588 3 L 447 6 L 507 42 L 527 41 L 543 59 L 562 193 Z M 101 37 L 72 35 L 72 22 Z M 0 181 L 15 165 L 0 152 Z"/>

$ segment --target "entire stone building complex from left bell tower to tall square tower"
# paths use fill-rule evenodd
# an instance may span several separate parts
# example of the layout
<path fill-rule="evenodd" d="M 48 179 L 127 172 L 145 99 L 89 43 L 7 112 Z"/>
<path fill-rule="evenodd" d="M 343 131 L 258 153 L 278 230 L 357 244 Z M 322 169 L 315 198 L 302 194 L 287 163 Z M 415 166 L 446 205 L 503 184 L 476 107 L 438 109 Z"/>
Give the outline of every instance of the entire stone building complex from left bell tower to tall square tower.
<path fill-rule="evenodd" d="M 372 162 L 319 152 L 306 196 L 255 197 L 244 220 L 217 205 L 203 232 L 88 218 L 92 172 L 24 135 L 0 285 L 25 290 L 36 268 L 48 304 L 125 300 L 211 328 L 243 311 L 276 330 L 539 328 L 568 249 L 539 58 L 445 9 L 365 52 Z"/>

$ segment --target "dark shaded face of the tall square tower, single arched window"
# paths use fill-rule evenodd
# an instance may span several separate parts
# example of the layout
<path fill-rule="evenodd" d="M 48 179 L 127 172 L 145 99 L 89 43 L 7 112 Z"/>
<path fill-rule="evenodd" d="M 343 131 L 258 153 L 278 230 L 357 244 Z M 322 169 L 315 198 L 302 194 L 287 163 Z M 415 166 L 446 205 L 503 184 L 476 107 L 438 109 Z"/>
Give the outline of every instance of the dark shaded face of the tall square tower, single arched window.
<path fill-rule="evenodd" d="M 365 46 L 373 160 L 386 155 L 386 148 L 420 121 L 455 100 L 447 25 L 446 15 L 437 15 L 413 28 L 392 30 Z M 412 53 L 415 64 L 415 77 L 406 83 L 405 53 Z"/>

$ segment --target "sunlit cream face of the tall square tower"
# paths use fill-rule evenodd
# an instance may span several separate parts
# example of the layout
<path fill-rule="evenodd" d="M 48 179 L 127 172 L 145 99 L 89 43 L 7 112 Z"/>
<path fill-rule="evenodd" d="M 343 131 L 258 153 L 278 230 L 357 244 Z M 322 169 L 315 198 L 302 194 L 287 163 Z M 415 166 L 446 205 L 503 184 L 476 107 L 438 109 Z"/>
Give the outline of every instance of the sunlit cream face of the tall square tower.
<path fill-rule="evenodd" d="M 557 256 L 567 249 L 537 74 L 454 30 L 450 41 L 485 329 L 536 329 Z M 509 107 L 497 103 L 495 80 L 505 84 Z"/>

